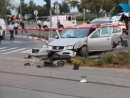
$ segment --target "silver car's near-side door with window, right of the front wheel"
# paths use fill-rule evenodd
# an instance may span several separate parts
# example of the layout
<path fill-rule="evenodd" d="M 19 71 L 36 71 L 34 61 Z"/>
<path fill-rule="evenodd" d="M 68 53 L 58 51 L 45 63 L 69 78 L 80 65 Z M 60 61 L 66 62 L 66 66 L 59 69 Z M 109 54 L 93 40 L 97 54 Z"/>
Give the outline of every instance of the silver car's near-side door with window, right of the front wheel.
<path fill-rule="evenodd" d="M 112 50 L 111 28 L 99 28 L 88 36 L 89 51 L 106 51 Z"/>

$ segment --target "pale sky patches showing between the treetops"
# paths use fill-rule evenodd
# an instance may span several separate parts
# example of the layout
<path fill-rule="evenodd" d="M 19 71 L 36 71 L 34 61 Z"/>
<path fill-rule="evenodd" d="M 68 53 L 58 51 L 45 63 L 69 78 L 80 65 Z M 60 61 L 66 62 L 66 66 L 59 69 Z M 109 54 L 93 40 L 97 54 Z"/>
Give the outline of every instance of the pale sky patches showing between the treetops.
<path fill-rule="evenodd" d="M 28 3 L 30 0 L 24 0 L 25 3 Z M 43 0 L 33 0 L 34 3 L 36 3 L 37 5 L 44 5 L 45 2 L 43 2 Z M 58 1 L 59 3 L 62 2 L 62 0 L 51 0 L 51 3 L 53 4 L 55 1 Z M 77 9 L 71 9 L 71 12 L 77 12 Z"/>

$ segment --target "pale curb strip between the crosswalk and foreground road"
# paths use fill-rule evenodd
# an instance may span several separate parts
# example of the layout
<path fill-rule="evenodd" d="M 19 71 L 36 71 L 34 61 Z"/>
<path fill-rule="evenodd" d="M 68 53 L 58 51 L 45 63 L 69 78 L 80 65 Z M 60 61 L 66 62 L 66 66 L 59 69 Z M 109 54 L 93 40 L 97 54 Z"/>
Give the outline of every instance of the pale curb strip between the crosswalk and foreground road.
<path fill-rule="evenodd" d="M 18 63 L 33 63 L 38 65 L 43 65 L 44 61 L 40 60 L 33 60 L 33 59 L 23 59 L 23 58 L 7 58 L 7 57 L 0 57 L 0 61 L 6 62 L 18 62 Z"/>

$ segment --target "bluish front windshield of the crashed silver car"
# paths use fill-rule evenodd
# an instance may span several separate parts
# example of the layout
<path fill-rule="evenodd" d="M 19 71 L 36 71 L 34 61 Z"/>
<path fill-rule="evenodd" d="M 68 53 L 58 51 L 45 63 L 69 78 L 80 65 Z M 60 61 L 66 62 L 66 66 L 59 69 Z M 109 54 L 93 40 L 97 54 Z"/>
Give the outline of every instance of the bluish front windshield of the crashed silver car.
<path fill-rule="evenodd" d="M 88 33 L 89 29 L 66 30 L 62 33 L 61 38 L 84 38 Z"/>

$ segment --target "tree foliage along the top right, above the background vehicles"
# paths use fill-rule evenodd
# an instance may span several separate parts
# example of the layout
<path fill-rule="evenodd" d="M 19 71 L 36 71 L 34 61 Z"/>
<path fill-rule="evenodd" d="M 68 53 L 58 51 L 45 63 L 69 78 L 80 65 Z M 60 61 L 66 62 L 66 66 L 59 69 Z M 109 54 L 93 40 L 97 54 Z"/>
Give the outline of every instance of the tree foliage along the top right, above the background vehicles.
<path fill-rule="evenodd" d="M 111 9 L 122 2 L 127 3 L 128 0 L 76 0 L 69 3 L 73 7 L 77 6 L 80 12 L 83 12 L 83 9 L 88 9 L 91 12 L 96 13 L 97 17 L 100 17 L 100 15 L 102 14 L 101 9 L 103 11 L 105 10 L 106 13 L 109 14 Z"/>

